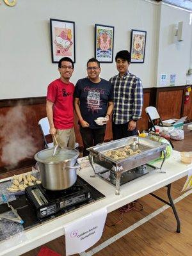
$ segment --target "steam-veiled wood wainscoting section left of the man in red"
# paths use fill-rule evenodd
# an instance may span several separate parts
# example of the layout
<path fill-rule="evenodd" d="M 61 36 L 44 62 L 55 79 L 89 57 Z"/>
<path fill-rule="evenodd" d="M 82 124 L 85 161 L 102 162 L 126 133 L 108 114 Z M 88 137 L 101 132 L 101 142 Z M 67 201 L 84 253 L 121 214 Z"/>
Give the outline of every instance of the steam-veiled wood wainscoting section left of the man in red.
<path fill-rule="evenodd" d="M 0 100 L 0 173 L 35 164 L 34 154 L 44 148 L 44 141 L 38 127 L 38 120 L 44 116 L 46 116 L 45 97 Z M 19 122 L 17 119 L 22 121 Z M 28 140 L 22 140 L 28 134 L 31 138 L 29 140 L 31 147 L 26 145 Z M 19 159 L 17 154 L 22 152 L 25 154 L 25 148 L 31 148 L 31 157 L 18 160 L 17 166 L 4 164 L 2 154 L 8 155 L 10 160 Z"/>

